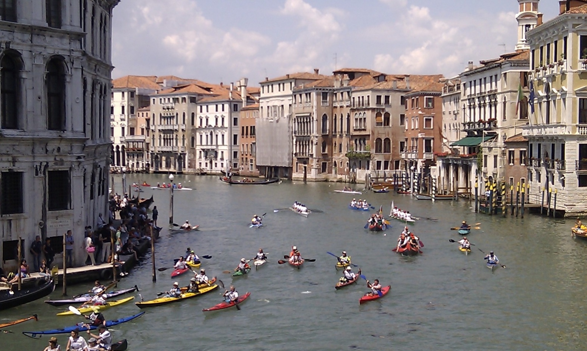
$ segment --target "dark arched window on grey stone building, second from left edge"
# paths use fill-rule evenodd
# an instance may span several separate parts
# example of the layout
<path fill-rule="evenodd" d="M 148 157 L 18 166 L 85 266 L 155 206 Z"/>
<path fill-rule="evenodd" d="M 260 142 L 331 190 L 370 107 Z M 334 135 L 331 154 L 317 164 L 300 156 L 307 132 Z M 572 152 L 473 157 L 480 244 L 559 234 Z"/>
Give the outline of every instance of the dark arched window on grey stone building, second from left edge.
<path fill-rule="evenodd" d="M 46 67 L 47 128 L 65 130 L 65 67 L 63 60 L 53 57 Z"/>

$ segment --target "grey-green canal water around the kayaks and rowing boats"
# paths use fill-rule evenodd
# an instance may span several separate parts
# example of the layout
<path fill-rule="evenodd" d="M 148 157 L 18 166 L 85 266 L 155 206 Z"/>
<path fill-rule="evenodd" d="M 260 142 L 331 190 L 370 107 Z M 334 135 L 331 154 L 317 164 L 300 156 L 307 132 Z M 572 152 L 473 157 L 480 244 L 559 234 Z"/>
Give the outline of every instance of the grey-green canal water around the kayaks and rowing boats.
<path fill-rule="evenodd" d="M 164 175 L 127 175 L 127 182 L 168 182 Z M 114 178 L 114 189 L 122 192 L 122 179 Z M 411 226 L 424 242 L 423 254 L 402 257 L 391 250 L 403 224 L 392 220 L 384 236 L 363 229 L 369 213 L 349 210 L 353 196 L 333 193 L 343 185 L 284 181 L 279 184 L 228 185 L 212 176 L 177 176 L 176 182 L 194 188 L 174 192 L 175 223 L 190 220 L 200 231 L 170 234 L 167 230 L 170 192 L 151 190 L 160 213 L 161 240 L 156 246 L 157 268 L 171 267 L 172 259 L 191 247 L 203 260 L 208 275 L 216 275 L 225 285 L 234 284 L 240 294 L 251 292 L 241 311 L 201 310 L 221 301 L 220 293 L 166 306 L 145 309 L 135 321 L 112 328 L 114 339 L 127 338 L 129 350 L 583 350 L 587 242 L 571 238 L 572 220 L 544 219 L 527 215 L 524 219 L 475 214 L 471 203 L 414 200 L 393 193 L 364 193 L 384 213 L 390 203 L 419 220 Z M 359 186 L 362 188 L 362 186 Z M 311 209 L 304 218 L 289 210 L 295 200 Z M 265 227 L 249 229 L 253 214 L 264 214 Z M 481 223 L 469 238 L 473 252 L 464 255 L 460 240 L 450 227 L 462 220 Z M 306 262 L 301 270 L 277 261 L 298 246 Z M 244 277 L 232 278 L 231 270 L 241 257 L 252 258 L 259 247 L 269 255 L 269 263 Z M 369 280 L 379 278 L 392 291 L 377 301 L 359 305 L 368 290 L 365 281 L 340 290 L 334 285 L 342 272 L 335 270 L 336 259 L 326 252 L 346 250 L 352 262 Z M 488 270 L 484 254 L 494 250 L 507 268 Z M 171 288 L 171 270 L 157 272 L 151 281 L 151 260 L 146 257 L 119 288 L 141 289 L 147 300 L 158 291 Z M 187 285 L 187 275 L 177 278 Z M 70 287 L 70 295 L 91 285 Z M 51 298 L 60 298 L 60 290 Z M 140 300 L 136 294 L 136 300 Z M 0 311 L 0 323 L 38 313 L 38 322 L 25 322 L 0 334 L 3 350 L 42 350 L 48 337 L 31 339 L 23 330 L 60 328 L 79 322 L 76 316 L 55 316 L 59 312 L 42 301 Z M 104 311 L 107 319 L 139 312 L 134 304 Z M 58 335 L 62 350 L 66 336 Z"/>

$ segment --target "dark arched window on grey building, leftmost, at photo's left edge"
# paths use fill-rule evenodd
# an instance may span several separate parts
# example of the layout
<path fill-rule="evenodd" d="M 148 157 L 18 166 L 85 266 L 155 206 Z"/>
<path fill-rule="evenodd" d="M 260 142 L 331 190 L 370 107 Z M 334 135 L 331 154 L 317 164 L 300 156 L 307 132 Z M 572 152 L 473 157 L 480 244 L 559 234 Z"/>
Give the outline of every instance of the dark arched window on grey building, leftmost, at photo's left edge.
<path fill-rule="evenodd" d="M 3 129 L 18 129 L 19 64 L 9 54 L 0 61 L 0 100 Z"/>

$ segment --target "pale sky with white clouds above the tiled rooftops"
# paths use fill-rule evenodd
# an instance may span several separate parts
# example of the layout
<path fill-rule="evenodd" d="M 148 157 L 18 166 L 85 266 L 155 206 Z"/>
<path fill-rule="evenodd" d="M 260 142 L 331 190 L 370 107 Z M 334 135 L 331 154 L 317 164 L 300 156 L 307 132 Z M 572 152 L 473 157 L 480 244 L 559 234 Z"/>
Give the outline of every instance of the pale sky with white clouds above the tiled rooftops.
<path fill-rule="evenodd" d="M 173 74 L 209 83 L 361 67 L 453 77 L 512 52 L 517 0 L 122 0 L 113 78 Z M 558 1 L 542 0 L 545 21 Z"/>

